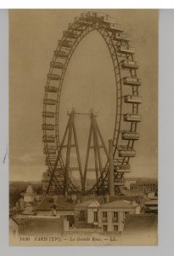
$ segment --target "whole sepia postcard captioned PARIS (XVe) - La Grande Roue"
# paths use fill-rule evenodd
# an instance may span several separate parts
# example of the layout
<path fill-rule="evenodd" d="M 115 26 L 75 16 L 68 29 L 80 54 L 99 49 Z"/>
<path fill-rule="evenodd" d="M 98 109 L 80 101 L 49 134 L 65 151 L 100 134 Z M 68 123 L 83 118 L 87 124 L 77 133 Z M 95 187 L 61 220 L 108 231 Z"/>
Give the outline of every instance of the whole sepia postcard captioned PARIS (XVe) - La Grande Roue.
<path fill-rule="evenodd" d="M 158 10 L 9 11 L 9 245 L 158 245 Z"/>

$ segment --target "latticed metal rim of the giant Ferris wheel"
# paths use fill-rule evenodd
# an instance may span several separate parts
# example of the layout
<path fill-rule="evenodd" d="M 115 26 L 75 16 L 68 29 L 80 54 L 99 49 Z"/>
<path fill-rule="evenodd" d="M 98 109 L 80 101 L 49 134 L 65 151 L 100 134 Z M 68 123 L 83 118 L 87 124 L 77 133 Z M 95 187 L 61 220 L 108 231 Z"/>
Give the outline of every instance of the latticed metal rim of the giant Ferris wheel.
<path fill-rule="evenodd" d="M 104 18 L 105 17 L 105 18 Z M 130 48 L 128 41 L 126 39 L 119 39 L 118 35 L 123 34 L 122 28 L 110 29 L 109 22 L 104 21 L 104 19 L 109 19 L 108 15 L 98 15 L 96 13 L 90 13 L 89 15 L 82 15 L 80 18 L 76 18 L 75 22 L 70 24 L 67 31 L 64 32 L 63 37 L 59 41 L 57 49 L 54 51 L 53 60 L 51 61 L 47 85 L 44 95 L 43 102 L 43 127 L 44 125 L 49 124 L 50 117 L 46 116 L 46 113 L 50 112 L 50 104 L 54 106 L 54 136 L 55 142 L 50 143 L 48 140 L 44 141 L 44 148 L 46 154 L 46 160 L 48 162 L 48 169 L 50 172 L 53 172 L 53 164 L 52 164 L 52 154 L 50 154 L 50 147 L 55 148 L 55 155 L 58 154 L 59 148 L 59 102 L 61 96 L 61 90 L 63 88 L 65 73 L 70 62 L 70 59 L 76 50 L 78 44 L 81 43 L 81 40 L 87 36 L 89 32 L 94 30 L 98 31 L 102 38 L 104 38 L 104 42 L 106 43 L 109 49 L 109 55 L 112 59 L 114 73 L 115 73 L 115 87 L 116 87 L 116 113 L 115 113 L 115 129 L 113 135 L 113 147 L 114 147 L 114 160 L 115 166 L 117 166 L 117 170 L 115 172 L 115 179 L 119 180 L 124 177 L 124 172 L 120 172 L 118 166 L 129 166 L 130 156 L 119 156 L 119 143 L 122 143 L 121 139 L 121 124 L 124 122 L 122 115 L 122 106 L 126 104 L 125 98 L 123 97 L 123 85 L 124 85 L 124 77 L 123 70 L 129 73 L 129 78 L 138 79 L 137 77 L 137 67 L 123 67 L 123 61 L 134 61 L 132 52 L 124 52 L 121 51 L 121 47 Z M 69 42 L 69 44 L 65 44 L 65 42 Z M 65 56 L 64 56 L 65 53 Z M 58 63 L 62 64 L 62 67 L 58 65 Z M 57 65 L 57 66 L 56 66 Z M 58 67 L 59 66 L 59 67 Z M 54 75 L 57 75 L 55 77 Z M 59 77 L 58 77 L 59 75 Z M 56 85 L 54 85 L 56 84 Z M 51 98 L 51 93 L 48 90 L 55 86 L 57 88 L 56 97 Z M 138 86 L 139 84 L 130 85 L 132 88 L 132 96 L 138 96 Z M 53 100 L 55 102 L 50 102 L 49 100 Z M 129 102 L 130 103 L 130 102 Z M 138 115 L 138 106 L 140 102 L 132 103 L 132 115 Z M 128 131 L 137 132 L 138 121 L 129 121 L 127 122 L 130 126 Z M 53 123 L 52 123 L 53 124 Z M 48 138 L 50 136 L 50 131 L 43 128 L 43 137 Z M 126 148 L 133 149 L 135 139 L 126 139 L 124 141 L 124 145 Z M 53 151 L 52 151 L 53 153 Z M 64 160 L 62 156 L 60 156 L 60 169 L 64 169 Z M 56 179 L 56 177 L 54 177 Z M 64 173 L 62 172 L 62 178 L 64 178 Z M 69 178 L 70 180 L 70 178 Z M 49 181 L 51 182 L 51 181 Z M 53 182 L 53 181 L 52 181 Z M 59 182 L 59 178 L 54 180 L 54 186 L 57 183 L 57 193 L 61 194 L 62 184 Z M 104 167 L 104 171 L 98 179 L 98 182 L 95 183 L 92 189 L 86 191 L 87 194 L 91 193 L 105 193 L 108 190 L 108 163 L 106 163 Z M 80 192 L 79 189 L 71 182 L 69 183 L 70 190 L 72 192 Z"/>

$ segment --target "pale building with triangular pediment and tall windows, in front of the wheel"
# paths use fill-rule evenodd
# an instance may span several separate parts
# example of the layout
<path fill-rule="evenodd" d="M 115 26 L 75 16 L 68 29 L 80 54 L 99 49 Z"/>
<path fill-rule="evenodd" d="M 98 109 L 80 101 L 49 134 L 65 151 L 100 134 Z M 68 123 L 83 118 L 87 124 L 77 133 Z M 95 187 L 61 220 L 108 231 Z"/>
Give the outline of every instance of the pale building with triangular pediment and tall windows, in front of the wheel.
<path fill-rule="evenodd" d="M 130 201 L 99 204 L 84 201 L 74 207 L 76 228 L 96 228 L 101 232 L 122 232 L 126 214 L 140 213 L 140 206 Z"/>

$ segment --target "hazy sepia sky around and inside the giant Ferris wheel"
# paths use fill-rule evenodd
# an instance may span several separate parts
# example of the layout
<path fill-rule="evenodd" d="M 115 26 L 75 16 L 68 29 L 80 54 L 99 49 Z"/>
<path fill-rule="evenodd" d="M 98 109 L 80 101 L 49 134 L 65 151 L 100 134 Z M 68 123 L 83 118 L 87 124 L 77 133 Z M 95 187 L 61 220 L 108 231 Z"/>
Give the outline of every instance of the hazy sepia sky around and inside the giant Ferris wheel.
<path fill-rule="evenodd" d="M 53 50 L 62 32 L 81 10 L 11 10 L 9 26 L 9 159 L 10 180 L 41 180 L 47 170 L 42 153 L 42 100 Z M 158 12 L 107 9 L 130 34 L 136 49 L 143 104 L 138 124 L 140 140 L 131 160 L 132 177 L 158 173 Z M 93 63 L 93 65 L 92 65 Z M 65 76 L 60 99 L 62 137 L 67 109 L 98 113 L 98 125 L 108 146 L 115 125 L 115 81 L 109 51 L 98 32 L 77 47 Z M 81 161 L 87 151 L 89 118 L 76 117 Z"/>

